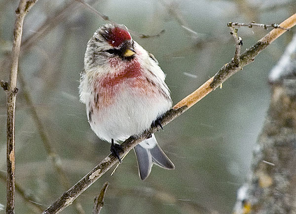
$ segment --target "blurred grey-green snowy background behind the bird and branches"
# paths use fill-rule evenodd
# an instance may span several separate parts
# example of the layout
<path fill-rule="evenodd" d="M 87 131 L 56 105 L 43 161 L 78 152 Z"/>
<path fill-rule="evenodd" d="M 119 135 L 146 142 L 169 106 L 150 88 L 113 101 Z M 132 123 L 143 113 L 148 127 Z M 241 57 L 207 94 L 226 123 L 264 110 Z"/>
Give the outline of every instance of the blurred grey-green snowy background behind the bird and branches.
<path fill-rule="evenodd" d="M 86 2 L 135 32 L 133 39 L 153 53 L 167 74 L 175 104 L 233 57 L 228 22 L 280 24 L 296 11 L 295 0 Z M 18 0 L 0 0 L 0 79 L 5 81 L 17 5 Z M 16 182 L 24 195 L 44 209 L 110 153 L 110 144 L 90 129 L 77 88 L 86 43 L 104 23 L 75 0 L 39 0 L 25 18 L 16 104 Z M 242 51 L 267 33 L 262 28 L 239 28 Z M 109 181 L 101 214 L 231 213 L 236 190 L 247 179 L 268 108 L 268 72 L 292 33 L 281 36 L 222 89 L 156 133 L 176 166 L 174 171 L 154 166 L 148 179 L 141 181 L 135 154 L 130 152 L 114 175 L 108 171 L 78 197 L 84 212 L 92 212 L 93 198 Z M 140 34 L 158 36 L 139 38 Z M 0 204 L 5 205 L 6 95 L 2 90 L 0 124 Z M 68 184 L 52 159 L 60 164 Z M 62 213 L 77 213 L 75 206 Z M 39 210 L 17 193 L 16 213 Z M 4 212 L 0 207 L 0 214 Z"/>

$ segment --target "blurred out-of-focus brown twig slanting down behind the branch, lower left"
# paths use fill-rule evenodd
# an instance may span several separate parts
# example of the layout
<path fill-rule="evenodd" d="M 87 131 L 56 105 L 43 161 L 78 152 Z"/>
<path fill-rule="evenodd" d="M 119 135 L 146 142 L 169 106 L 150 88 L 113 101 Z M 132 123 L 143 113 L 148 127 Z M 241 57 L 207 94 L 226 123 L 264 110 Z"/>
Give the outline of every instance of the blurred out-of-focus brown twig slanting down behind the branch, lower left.
<path fill-rule="evenodd" d="M 37 127 L 37 130 L 38 130 L 39 135 L 41 137 L 41 140 L 43 142 L 46 153 L 51 161 L 51 164 L 52 164 L 54 170 L 59 175 L 60 183 L 62 184 L 64 189 L 67 190 L 71 187 L 70 180 L 67 177 L 66 172 L 63 170 L 63 168 L 61 166 L 60 156 L 55 152 L 55 149 L 53 148 L 53 146 L 49 142 L 48 134 L 41 122 L 41 119 L 39 118 L 39 116 L 37 114 L 36 108 L 33 104 L 32 97 L 31 97 L 30 92 L 26 86 L 26 82 L 25 82 L 24 77 L 21 72 L 19 72 L 19 83 L 22 86 L 25 100 L 26 100 L 28 106 L 30 107 L 29 109 L 30 109 L 33 119 L 36 123 L 36 127 Z M 75 207 L 77 213 L 78 214 L 85 214 L 84 210 L 82 209 L 81 204 L 78 201 L 77 202 L 75 201 L 74 203 L 75 203 L 74 207 Z"/>

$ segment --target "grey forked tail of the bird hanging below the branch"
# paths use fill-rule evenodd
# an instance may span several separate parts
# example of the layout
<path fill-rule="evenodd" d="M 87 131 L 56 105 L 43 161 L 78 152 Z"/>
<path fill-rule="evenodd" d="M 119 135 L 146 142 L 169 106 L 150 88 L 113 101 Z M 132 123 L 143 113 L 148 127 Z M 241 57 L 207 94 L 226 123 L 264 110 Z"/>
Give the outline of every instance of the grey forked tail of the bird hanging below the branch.
<path fill-rule="evenodd" d="M 148 177 L 153 164 L 168 170 L 175 169 L 173 162 L 159 147 L 154 134 L 152 134 L 152 137 L 139 143 L 134 149 L 137 155 L 139 174 L 142 180 Z"/>

